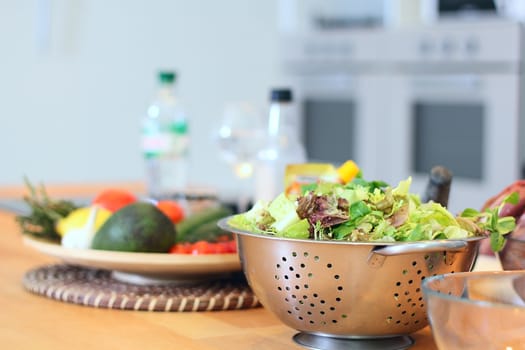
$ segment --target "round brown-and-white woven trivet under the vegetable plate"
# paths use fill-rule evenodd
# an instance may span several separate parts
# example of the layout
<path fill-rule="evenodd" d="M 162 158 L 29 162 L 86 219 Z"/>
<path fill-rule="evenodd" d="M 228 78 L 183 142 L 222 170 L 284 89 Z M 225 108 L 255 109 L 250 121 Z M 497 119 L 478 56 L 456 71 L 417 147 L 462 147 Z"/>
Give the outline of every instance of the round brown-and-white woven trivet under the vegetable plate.
<path fill-rule="evenodd" d="M 28 271 L 24 287 L 42 296 L 86 306 L 143 311 L 238 310 L 260 306 L 242 274 L 192 285 L 135 285 L 108 270 L 56 264 Z"/>

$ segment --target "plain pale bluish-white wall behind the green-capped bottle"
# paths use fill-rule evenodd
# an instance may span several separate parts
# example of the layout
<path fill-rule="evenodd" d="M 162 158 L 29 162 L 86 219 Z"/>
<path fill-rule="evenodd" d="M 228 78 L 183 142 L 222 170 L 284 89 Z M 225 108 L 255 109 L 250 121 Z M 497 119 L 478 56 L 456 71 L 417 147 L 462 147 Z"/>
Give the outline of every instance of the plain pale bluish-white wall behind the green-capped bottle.
<path fill-rule="evenodd" d="M 276 1 L 0 0 L 0 185 L 141 180 L 140 119 L 173 67 L 193 179 L 230 187 L 210 133 L 226 101 L 264 107 L 281 83 L 276 21 Z"/>

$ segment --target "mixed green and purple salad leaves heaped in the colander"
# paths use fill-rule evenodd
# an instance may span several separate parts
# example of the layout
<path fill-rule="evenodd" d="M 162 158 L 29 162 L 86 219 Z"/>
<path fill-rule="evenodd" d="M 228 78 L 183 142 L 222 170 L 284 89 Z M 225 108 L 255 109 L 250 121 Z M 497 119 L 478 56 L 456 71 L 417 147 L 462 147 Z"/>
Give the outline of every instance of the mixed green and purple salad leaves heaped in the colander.
<path fill-rule="evenodd" d="M 410 193 L 412 179 L 390 187 L 357 177 L 347 184 L 320 182 L 299 196 L 280 194 L 259 201 L 246 213 L 233 216 L 235 228 L 267 235 L 350 242 L 406 242 L 490 236 L 493 251 L 503 248 L 503 235 L 515 227 L 513 217 L 499 217 L 494 209 L 468 208 L 457 216 L 435 202 L 421 203 Z"/>

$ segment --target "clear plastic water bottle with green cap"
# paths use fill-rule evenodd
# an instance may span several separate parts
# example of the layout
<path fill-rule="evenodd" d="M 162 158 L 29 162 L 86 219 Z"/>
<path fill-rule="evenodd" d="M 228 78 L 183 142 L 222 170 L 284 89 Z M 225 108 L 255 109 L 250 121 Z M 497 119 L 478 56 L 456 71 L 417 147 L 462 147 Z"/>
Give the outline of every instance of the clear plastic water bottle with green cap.
<path fill-rule="evenodd" d="M 176 78 L 173 71 L 158 73 L 157 93 L 142 124 L 146 190 L 157 199 L 183 196 L 188 182 L 188 118 L 175 95 Z"/>

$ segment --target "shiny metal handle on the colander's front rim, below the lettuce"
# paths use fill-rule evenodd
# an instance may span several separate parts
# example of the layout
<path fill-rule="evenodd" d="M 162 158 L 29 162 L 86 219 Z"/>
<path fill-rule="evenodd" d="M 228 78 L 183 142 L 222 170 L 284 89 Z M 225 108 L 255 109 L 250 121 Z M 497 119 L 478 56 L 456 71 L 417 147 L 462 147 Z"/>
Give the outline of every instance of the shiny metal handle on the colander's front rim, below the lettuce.
<path fill-rule="evenodd" d="M 374 254 L 394 256 L 412 253 L 460 252 L 467 248 L 467 242 L 443 240 L 424 243 L 396 244 L 374 249 Z"/>

